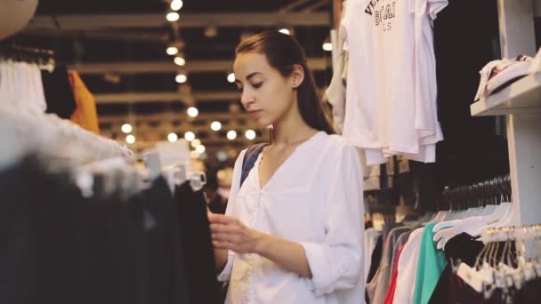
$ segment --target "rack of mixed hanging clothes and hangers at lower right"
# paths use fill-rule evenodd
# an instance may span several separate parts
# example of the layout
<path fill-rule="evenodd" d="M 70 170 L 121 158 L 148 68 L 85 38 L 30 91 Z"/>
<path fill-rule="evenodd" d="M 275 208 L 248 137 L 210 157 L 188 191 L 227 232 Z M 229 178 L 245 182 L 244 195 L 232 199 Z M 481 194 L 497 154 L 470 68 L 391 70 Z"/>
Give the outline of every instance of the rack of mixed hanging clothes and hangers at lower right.
<path fill-rule="evenodd" d="M 383 256 L 367 284 L 366 302 L 465 304 L 538 299 L 540 295 L 529 292 L 540 283 L 535 269 L 539 268 L 541 228 L 513 224 L 513 207 L 507 203 L 510 182 L 504 176 L 446 190 L 441 196 L 452 199 L 449 211 L 428 212 L 402 224 L 386 220 Z M 367 229 L 367 234 L 374 233 Z M 441 244 L 442 240 L 446 242 Z M 535 244 L 526 245 L 527 241 Z"/>

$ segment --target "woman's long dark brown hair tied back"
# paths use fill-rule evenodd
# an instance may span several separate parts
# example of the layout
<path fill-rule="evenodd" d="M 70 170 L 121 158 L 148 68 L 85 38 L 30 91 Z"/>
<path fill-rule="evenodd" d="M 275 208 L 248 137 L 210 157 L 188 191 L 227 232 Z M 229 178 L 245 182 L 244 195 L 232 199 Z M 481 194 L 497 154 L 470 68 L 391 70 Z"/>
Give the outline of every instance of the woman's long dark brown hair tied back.
<path fill-rule="evenodd" d="M 303 67 L 304 80 L 297 88 L 299 112 L 304 122 L 312 128 L 325 131 L 327 134 L 335 134 L 323 112 L 303 47 L 293 36 L 282 34 L 278 30 L 255 34 L 241 41 L 235 54 L 246 52 L 264 54 L 271 67 L 276 68 L 284 77 L 291 76 L 295 64 Z"/>

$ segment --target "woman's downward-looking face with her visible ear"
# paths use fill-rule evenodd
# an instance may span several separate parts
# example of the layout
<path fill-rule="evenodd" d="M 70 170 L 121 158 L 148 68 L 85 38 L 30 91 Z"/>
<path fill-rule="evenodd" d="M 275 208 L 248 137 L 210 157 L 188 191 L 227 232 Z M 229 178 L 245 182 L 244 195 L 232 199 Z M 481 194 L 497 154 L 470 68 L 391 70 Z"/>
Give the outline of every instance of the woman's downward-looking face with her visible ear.
<path fill-rule="evenodd" d="M 233 66 L 240 102 L 259 127 L 275 124 L 297 111 L 295 76 L 284 77 L 264 54 L 240 53 Z"/>

